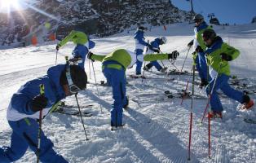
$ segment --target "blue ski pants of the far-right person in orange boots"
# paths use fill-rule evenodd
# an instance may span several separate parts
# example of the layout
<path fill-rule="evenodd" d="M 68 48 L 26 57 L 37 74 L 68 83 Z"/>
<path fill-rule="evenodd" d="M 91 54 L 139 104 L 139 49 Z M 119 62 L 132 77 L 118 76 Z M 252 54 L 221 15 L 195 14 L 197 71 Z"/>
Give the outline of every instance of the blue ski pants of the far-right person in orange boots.
<path fill-rule="evenodd" d="M 207 95 L 210 95 L 210 91 L 214 86 L 213 94 L 210 97 L 210 107 L 213 112 L 223 111 L 223 106 L 217 94 L 217 90 L 219 89 L 222 90 L 224 95 L 227 95 L 227 97 L 231 99 L 235 99 L 236 101 L 242 103 L 244 93 L 238 90 L 234 90 L 228 84 L 228 79 L 229 79 L 229 76 L 225 74 L 219 74 L 216 80 L 215 86 L 214 86 L 214 79 L 212 79 L 210 81 L 210 84 L 205 88 Z"/>

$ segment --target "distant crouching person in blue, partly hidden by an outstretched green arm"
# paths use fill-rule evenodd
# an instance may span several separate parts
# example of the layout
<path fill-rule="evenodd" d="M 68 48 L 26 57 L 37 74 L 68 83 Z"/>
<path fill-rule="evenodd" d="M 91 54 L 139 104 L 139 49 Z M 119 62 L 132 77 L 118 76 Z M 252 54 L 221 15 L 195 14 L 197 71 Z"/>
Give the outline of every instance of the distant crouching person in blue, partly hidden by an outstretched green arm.
<path fill-rule="evenodd" d="M 154 41 L 150 42 L 150 45 L 152 46 L 152 50 L 148 49 L 148 51 L 146 51 L 146 54 L 152 54 L 155 51 L 157 53 L 160 52 L 160 45 L 166 44 L 167 39 L 166 37 L 157 37 Z M 144 70 L 148 71 L 150 68 L 152 68 L 152 66 L 155 66 L 155 68 L 157 68 L 158 71 L 160 71 L 161 73 L 166 73 L 166 68 L 162 68 L 160 64 L 158 64 L 157 60 L 150 62 L 149 64 L 147 64 L 145 67 L 143 67 Z"/>

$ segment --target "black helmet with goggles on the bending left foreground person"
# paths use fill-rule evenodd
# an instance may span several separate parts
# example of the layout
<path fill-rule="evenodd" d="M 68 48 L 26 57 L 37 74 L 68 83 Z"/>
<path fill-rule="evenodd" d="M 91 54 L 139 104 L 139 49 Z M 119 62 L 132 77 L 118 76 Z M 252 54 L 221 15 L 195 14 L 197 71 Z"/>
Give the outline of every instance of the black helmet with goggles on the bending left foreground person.
<path fill-rule="evenodd" d="M 70 77 L 72 79 L 73 83 L 69 83 L 67 79 L 67 74 L 68 74 L 68 67 L 70 71 Z M 68 85 L 75 85 L 77 86 L 80 90 L 86 89 L 86 83 L 87 83 L 87 75 L 86 72 L 80 68 L 77 65 L 68 65 L 66 64 L 66 68 L 64 71 L 62 71 L 60 75 L 60 85 L 63 86 L 65 84 Z"/>

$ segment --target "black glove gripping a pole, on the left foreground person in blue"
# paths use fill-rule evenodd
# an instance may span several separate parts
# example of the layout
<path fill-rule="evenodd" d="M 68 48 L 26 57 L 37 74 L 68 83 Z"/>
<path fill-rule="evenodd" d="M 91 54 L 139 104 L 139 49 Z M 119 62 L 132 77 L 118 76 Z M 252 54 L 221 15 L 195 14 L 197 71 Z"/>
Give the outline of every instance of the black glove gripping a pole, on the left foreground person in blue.
<path fill-rule="evenodd" d="M 33 112 L 38 112 L 46 108 L 48 99 L 44 95 L 37 95 L 33 97 L 30 102 L 30 108 Z"/>

